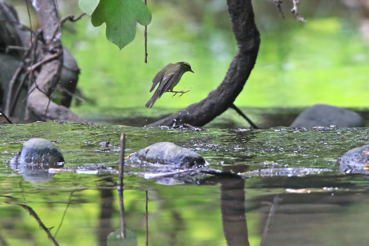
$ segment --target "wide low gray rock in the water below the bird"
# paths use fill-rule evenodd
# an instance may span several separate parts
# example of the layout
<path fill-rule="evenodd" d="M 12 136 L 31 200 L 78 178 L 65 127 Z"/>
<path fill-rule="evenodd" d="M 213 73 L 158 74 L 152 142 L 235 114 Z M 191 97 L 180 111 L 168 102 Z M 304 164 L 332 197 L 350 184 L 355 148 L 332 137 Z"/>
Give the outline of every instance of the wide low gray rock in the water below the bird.
<path fill-rule="evenodd" d="M 169 168 L 190 168 L 205 165 L 205 159 L 196 152 L 169 142 L 152 144 L 130 155 L 125 163 L 140 165 L 161 164 Z"/>

